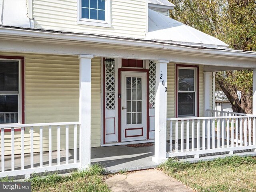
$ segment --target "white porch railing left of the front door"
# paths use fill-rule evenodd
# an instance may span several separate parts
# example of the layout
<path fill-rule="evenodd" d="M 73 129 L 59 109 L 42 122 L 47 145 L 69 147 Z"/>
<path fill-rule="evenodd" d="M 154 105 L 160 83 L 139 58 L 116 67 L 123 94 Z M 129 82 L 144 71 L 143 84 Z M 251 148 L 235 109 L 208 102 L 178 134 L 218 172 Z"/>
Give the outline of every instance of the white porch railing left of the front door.
<path fill-rule="evenodd" d="M 0 177 L 78 168 L 79 126 L 80 122 L 0 125 Z"/>

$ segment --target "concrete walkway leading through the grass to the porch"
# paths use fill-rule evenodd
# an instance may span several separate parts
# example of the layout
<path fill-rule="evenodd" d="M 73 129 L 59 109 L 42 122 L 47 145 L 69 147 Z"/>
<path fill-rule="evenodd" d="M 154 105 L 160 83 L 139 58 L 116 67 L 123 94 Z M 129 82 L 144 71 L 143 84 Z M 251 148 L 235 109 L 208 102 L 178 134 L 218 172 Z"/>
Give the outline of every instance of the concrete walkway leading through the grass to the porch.
<path fill-rule="evenodd" d="M 117 174 L 106 184 L 112 192 L 191 192 L 181 182 L 153 169 Z"/>

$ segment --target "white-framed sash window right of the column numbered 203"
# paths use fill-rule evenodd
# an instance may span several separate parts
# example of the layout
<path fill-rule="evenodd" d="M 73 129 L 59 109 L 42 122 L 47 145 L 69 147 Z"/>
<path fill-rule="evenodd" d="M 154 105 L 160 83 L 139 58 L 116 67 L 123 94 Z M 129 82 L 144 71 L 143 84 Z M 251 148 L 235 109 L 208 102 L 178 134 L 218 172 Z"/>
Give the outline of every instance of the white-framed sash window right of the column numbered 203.
<path fill-rule="evenodd" d="M 178 117 L 197 116 L 197 68 L 177 67 Z"/>

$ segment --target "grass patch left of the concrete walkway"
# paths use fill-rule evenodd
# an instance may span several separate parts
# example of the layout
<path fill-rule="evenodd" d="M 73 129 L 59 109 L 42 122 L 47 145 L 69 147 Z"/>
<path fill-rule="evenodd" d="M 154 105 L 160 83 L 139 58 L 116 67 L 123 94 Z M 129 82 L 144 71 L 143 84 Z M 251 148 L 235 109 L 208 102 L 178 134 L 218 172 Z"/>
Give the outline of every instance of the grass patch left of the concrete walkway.
<path fill-rule="evenodd" d="M 32 192 L 110 192 L 104 183 L 104 169 L 93 165 L 83 172 L 74 172 L 69 176 L 57 174 L 44 177 L 35 176 L 30 180 Z M 8 181 L 6 178 L 0 181 Z"/>

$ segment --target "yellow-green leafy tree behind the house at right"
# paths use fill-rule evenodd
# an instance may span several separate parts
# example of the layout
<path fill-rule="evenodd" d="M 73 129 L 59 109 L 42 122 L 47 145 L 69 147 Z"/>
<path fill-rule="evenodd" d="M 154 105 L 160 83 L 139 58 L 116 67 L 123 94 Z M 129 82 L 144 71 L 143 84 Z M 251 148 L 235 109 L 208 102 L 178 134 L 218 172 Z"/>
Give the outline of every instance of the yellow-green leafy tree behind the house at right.
<path fill-rule="evenodd" d="M 170 0 L 176 8 L 175 20 L 214 36 L 230 48 L 256 51 L 255 0 Z M 242 61 L 241 61 L 242 64 Z M 235 112 L 251 113 L 252 71 L 216 73 L 216 90 L 224 91 Z M 241 101 L 236 91 L 242 92 Z"/>

